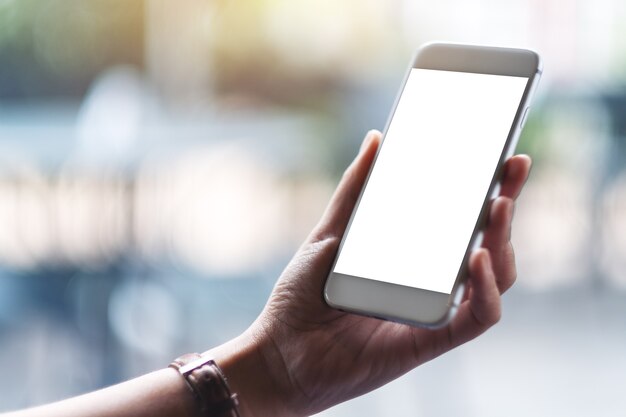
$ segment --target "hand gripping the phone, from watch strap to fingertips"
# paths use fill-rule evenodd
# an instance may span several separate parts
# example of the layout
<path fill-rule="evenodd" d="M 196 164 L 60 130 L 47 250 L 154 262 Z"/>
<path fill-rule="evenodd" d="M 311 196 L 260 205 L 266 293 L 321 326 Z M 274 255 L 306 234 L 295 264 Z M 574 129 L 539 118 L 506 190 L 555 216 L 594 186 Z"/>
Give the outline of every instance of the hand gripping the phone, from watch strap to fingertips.
<path fill-rule="evenodd" d="M 244 416 L 319 412 L 384 385 L 500 319 L 500 295 L 516 278 L 510 227 L 513 200 L 530 169 L 527 156 L 505 165 L 483 248 L 469 261 L 465 299 L 448 325 L 419 329 L 326 305 L 324 283 L 379 143 L 379 132 L 367 135 L 259 318 L 241 337 L 211 351 L 239 392 Z"/>

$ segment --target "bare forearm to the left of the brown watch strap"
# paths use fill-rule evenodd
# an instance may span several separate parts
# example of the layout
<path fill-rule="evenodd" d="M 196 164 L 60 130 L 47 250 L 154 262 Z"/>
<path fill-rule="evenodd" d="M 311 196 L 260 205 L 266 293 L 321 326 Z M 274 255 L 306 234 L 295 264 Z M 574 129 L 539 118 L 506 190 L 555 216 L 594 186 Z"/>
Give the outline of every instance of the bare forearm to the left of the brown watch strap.
<path fill-rule="evenodd" d="M 194 398 L 174 369 L 150 374 L 57 403 L 2 417 L 196 416 Z"/>

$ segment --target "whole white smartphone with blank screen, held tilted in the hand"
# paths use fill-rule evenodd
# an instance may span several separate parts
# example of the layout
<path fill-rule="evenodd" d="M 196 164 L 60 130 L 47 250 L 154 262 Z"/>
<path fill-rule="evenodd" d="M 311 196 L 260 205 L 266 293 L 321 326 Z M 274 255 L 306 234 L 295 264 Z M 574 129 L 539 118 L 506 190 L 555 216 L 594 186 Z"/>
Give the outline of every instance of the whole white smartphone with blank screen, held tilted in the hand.
<path fill-rule="evenodd" d="M 326 281 L 331 307 L 433 328 L 453 317 L 540 76 L 530 50 L 418 51 Z"/>

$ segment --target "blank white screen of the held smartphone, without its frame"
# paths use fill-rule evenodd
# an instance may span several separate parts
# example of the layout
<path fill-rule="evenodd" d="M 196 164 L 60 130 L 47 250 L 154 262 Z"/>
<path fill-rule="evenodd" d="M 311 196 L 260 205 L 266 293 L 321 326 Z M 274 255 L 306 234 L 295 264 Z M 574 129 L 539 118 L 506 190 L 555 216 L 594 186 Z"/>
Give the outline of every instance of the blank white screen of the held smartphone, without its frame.
<path fill-rule="evenodd" d="M 413 68 L 333 272 L 450 294 L 527 83 Z"/>

